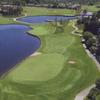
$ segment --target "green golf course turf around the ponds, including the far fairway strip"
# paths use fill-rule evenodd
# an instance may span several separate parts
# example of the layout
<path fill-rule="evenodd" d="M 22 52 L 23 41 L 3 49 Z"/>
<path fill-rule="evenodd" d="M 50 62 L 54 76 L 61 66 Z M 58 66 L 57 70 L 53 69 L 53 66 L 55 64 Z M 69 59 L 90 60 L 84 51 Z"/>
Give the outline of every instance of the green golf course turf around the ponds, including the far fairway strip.
<path fill-rule="evenodd" d="M 25 7 L 23 15 L 75 15 L 74 10 Z M 41 45 L 0 78 L 0 100 L 74 100 L 99 77 L 95 62 L 87 55 L 81 37 L 72 34 L 74 20 L 25 24 L 0 16 L 0 24 L 24 24 Z"/>

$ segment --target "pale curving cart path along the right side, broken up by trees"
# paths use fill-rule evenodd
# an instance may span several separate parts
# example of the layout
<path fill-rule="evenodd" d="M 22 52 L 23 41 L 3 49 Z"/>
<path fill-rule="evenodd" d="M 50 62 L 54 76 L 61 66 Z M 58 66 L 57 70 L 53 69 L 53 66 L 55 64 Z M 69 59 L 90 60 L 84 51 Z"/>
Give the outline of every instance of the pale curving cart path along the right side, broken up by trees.
<path fill-rule="evenodd" d="M 76 34 L 75 32 L 78 31 L 78 28 L 75 26 L 75 22 L 73 22 L 73 28 L 74 31 L 72 31 L 72 34 L 77 35 L 77 36 L 82 36 L 81 34 Z M 97 60 L 95 59 L 95 57 L 90 53 L 90 51 L 88 49 L 86 49 L 86 46 L 83 44 L 83 47 L 87 53 L 87 55 L 95 62 L 97 69 L 100 71 L 100 64 L 97 62 Z M 84 100 L 84 98 L 88 95 L 88 93 L 90 92 L 90 90 L 95 87 L 95 85 L 91 85 L 88 88 L 82 90 L 81 92 L 79 92 L 74 100 Z"/>

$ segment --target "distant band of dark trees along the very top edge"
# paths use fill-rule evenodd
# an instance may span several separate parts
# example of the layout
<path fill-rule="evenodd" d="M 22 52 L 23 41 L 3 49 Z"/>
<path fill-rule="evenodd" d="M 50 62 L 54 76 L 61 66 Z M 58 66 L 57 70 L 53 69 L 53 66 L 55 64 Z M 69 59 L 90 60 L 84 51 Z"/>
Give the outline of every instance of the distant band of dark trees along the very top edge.
<path fill-rule="evenodd" d="M 96 2 L 100 2 L 100 0 L 0 0 L 0 2 L 13 2 L 13 3 L 20 3 L 22 5 L 27 3 L 33 4 L 50 4 L 50 3 L 80 3 L 80 4 L 94 4 Z"/>

